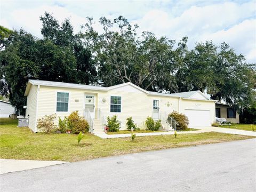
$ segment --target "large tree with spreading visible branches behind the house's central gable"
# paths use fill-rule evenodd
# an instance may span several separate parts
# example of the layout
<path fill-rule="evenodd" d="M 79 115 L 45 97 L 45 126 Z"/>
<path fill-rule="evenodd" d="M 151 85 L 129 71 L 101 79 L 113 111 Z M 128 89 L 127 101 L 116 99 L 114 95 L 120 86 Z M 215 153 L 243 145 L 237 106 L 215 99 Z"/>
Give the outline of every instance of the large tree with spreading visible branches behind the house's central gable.
<path fill-rule="evenodd" d="M 93 19 L 83 28 L 85 43 L 93 52 L 93 60 L 99 68 L 99 84 L 111 86 L 132 82 L 146 90 L 158 91 L 157 79 L 165 79 L 173 70 L 173 41 L 166 37 L 157 39 L 152 33 L 137 35 L 137 25 L 131 26 L 122 16 L 111 21 L 100 18 L 103 33 L 93 28 Z M 116 26 L 118 31 L 113 27 Z M 165 70 L 168 69 L 168 70 Z"/>

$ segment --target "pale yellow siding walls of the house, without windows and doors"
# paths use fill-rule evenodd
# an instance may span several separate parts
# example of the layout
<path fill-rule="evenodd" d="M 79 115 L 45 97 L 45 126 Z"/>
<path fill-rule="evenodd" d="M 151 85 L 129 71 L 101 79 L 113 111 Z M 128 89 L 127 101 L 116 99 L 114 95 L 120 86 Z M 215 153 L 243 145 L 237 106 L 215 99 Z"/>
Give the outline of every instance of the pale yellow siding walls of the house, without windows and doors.
<path fill-rule="evenodd" d="M 36 87 L 36 86 L 32 86 Z M 31 114 L 33 105 L 36 104 L 36 89 L 32 88 L 28 94 L 27 114 Z M 100 108 L 105 117 L 117 115 L 119 121 L 121 121 L 121 129 L 126 129 L 126 118 L 132 116 L 134 122 L 141 128 L 145 128 L 144 122 L 148 116 L 153 116 L 153 100 L 159 100 L 159 113 L 170 114 L 172 111 L 178 111 L 182 113 L 185 109 L 207 109 L 211 111 L 212 122 L 215 121 L 215 103 L 214 101 L 201 101 L 201 100 L 182 100 L 175 97 L 165 97 L 162 95 L 147 95 L 135 87 L 128 87 L 129 89 L 113 89 L 109 91 L 93 91 L 93 90 L 81 90 L 70 89 L 62 87 L 50 87 L 40 86 L 38 91 L 38 107 L 37 107 L 37 119 L 42 118 L 45 115 L 57 114 L 58 117 L 63 119 L 71 112 L 78 110 L 79 115 L 84 115 L 85 108 L 85 94 L 95 95 L 95 109 Z M 133 90 L 134 89 L 134 90 Z M 69 103 L 67 112 L 57 112 L 57 92 L 68 92 Z M 110 96 L 121 96 L 122 105 L 121 113 L 110 113 Z M 34 99 L 32 99 L 34 98 Z M 106 102 L 102 102 L 105 98 Z M 180 100 L 180 101 L 179 101 Z M 31 103 L 30 103 L 31 102 Z M 200 103 L 200 105 L 196 105 Z M 36 111 L 34 107 L 34 111 Z M 34 112 L 35 113 L 35 112 Z M 36 116 L 33 116 L 36 118 Z M 55 123 L 58 125 L 58 117 Z M 97 117 L 97 114 L 96 116 Z M 30 115 L 30 119 L 32 115 Z M 36 122 L 36 119 L 33 119 Z M 30 122 L 31 124 L 31 122 Z M 35 123 L 29 125 L 32 129 Z"/>

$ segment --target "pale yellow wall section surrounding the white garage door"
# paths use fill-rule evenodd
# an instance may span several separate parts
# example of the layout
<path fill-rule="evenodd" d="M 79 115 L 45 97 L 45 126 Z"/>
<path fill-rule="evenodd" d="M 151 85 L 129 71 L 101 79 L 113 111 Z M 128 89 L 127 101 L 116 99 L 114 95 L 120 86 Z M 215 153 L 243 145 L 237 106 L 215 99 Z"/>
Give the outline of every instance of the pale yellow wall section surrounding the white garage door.
<path fill-rule="evenodd" d="M 215 102 L 214 101 L 180 99 L 180 113 L 184 114 L 186 109 L 210 110 L 211 124 L 215 122 Z"/>

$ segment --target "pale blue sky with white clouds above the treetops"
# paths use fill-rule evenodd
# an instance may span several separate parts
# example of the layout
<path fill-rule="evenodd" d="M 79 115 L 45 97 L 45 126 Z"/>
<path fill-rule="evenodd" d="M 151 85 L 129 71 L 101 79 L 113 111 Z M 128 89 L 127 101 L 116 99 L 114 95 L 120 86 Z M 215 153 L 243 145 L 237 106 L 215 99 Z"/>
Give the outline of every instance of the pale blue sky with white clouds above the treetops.
<path fill-rule="evenodd" d="M 138 32 L 151 31 L 177 42 L 188 37 L 188 46 L 197 42 L 228 43 L 243 54 L 247 62 L 256 63 L 256 0 L 254 1 L 2 1 L 0 25 L 23 28 L 42 37 L 39 17 L 50 12 L 60 22 L 69 18 L 75 32 L 81 30 L 86 17 L 98 21 L 123 15 Z"/>

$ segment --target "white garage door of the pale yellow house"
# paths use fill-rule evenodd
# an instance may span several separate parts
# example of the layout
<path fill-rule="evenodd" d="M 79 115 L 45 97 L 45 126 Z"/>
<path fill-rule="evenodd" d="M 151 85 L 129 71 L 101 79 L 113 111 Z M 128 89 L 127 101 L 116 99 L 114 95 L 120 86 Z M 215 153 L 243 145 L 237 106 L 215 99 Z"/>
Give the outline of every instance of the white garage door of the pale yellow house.
<path fill-rule="evenodd" d="M 210 110 L 188 110 L 185 115 L 189 120 L 189 127 L 211 126 Z"/>

